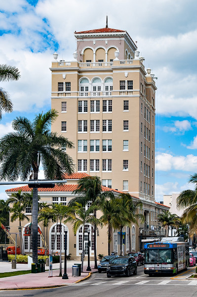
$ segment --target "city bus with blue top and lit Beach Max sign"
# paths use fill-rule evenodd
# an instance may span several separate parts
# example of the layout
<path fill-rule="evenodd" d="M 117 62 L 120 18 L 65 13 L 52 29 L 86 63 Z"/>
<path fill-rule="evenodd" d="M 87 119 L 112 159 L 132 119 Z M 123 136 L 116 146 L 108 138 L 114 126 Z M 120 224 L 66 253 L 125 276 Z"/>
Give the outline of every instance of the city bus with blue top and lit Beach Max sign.
<path fill-rule="evenodd" d="M 177 274 L 190 265 L 189 243 L 185 243 L 182 237 L 165 237 L 160 242 L 144 244 L 144 249 L 144 273 L 150 276 Z"/>

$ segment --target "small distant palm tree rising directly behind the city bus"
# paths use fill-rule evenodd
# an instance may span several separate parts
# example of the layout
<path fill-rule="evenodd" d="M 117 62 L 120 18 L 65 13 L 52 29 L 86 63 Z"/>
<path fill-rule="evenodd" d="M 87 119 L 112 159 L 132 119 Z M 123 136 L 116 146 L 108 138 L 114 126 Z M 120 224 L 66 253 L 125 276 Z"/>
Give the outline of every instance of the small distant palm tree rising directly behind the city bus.
<path fill-rule="evenodd" d="M 167 227 L 167 236 L 170 226 L 177 227 L 181 223 L 181 219 L 178 215 L 170 213 L 169 210 L 165 210 L 163 213 L 158 214 L 158 221 L 162 223 L 164 227 Z"/>

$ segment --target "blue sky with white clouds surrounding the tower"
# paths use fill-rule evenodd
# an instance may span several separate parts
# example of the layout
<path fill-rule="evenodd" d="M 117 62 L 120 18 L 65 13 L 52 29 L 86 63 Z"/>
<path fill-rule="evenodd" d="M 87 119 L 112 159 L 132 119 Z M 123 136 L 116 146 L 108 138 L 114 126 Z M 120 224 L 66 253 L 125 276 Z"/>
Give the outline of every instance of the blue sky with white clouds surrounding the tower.
<path fill-rule="evenodd" d="M 21 72 L 18 82 L 0 84 L 14 104 L 11 114 L 3 114 L 0 137 L 12 131 L 16 116 L 33 119 L 50 108 L 53 52 L 71 60 L 73 32 L 105 27 L 108 14 L 109 27 L 126 30 L 137 41 L 145 68 L 158 77 L 156 200 L 192 189 L 188 179 L 197 172 L 196 11 L 196 0 L 0 1 L 0 63 Z M 8 188 L 0 186 L 0 198 Z"/>

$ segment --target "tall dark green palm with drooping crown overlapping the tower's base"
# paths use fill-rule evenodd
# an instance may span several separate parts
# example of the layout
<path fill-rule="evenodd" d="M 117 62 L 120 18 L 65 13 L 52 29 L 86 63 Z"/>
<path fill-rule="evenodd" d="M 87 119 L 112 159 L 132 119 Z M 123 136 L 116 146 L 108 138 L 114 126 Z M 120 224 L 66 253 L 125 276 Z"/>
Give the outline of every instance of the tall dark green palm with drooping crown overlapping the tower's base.
<path fill-rule="evenodd" d="M 78 197 L 73 198 L 69 203 L 74 205 L 75 202 L 81 203 L 83 206 L 87 202 L 94 205 L 101 205 L 107 198 L 113 198 L 114 194 L 111 191 L 102 191 L 101 179 L 98 176 L 88 176 L 81 178 L 78 182 L 78 188 L 73 192 Z M 94 210 L 96 218 L 96 209 Z M 94 269 L 97 269 L 97 254 L 96 254 L 96 225 L 94 225 Z"/>

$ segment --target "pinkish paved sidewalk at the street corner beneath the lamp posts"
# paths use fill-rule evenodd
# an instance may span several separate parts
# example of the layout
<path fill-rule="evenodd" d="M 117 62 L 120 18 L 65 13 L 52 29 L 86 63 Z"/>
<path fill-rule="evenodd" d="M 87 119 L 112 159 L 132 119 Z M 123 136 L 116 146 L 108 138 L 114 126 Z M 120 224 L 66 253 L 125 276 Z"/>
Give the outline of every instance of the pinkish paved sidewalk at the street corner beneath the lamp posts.
<path fill-rule="evenodd" d="M 77 261 L 78 262 L 78 261 Z M 87 261 L 84 262 L 83 272 L 79 277 L 72 277 L 72 265 L 76 261 L 67 261 L 67 274 L 69 279 L 63 280 L 59 277 L 59 263 L 53 264 L 53 277 L 48 277 L 48 271 L 42 273 L 23 274 L 18 276 L 11 276 L 0 278 L 0 290 L 19 290 L 19 289 L 36 289 L 36 288 L 49 288 L 60 287 L 73 284 L 90 277 L 89 271 L 86 271 Z M 80 263 L 80 262 L 79 262 Z M 90 266 L 94 267 L 94 262 L 90 262 Z M 11 268 L 10 262 L 0 262 L 0 272 L 29 270 L 28 264 L 16 264 L 16 269 Z M 45 269 L 48 269 L 45 266 Z M 92 269 L 92 272 L 97 270 Z M 64 274 L 64 263 L 62 263 L 62 275 Z"/>

